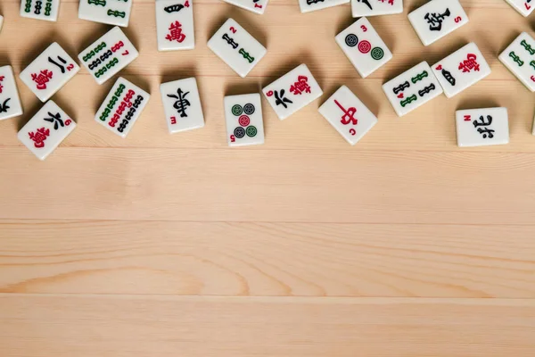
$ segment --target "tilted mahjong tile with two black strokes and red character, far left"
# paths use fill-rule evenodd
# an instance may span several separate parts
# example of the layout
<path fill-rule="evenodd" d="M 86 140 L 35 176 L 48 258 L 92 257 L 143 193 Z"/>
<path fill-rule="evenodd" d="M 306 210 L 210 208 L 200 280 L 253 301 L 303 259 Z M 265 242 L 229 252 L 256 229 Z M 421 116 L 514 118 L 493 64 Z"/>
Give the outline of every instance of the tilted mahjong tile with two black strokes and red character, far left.
<path fill-rule="evenodd" d="M 21 71 L 19 78 L 41 102 L 46 102 L 78 71 L 80 67 L 77 62 L 70 58 L 62 46 L 54 42 Z"/>

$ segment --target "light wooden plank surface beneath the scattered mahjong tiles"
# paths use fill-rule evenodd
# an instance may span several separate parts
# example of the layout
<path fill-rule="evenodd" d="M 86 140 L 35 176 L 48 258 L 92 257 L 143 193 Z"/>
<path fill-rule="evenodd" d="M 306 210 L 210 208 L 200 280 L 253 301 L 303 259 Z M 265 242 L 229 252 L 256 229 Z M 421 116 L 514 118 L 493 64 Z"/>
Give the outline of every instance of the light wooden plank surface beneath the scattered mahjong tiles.
<path fill-rule="evenodd" d="M 424 47 L 399 15 L 370 18 L 394 58 L 360 79 L 334 36 L 350 6 L 259 16 L 195 0 L 196 48 L 158 53 L 154 1 L 125 29 L 140 57 L 121 72 L 152 98 L 127 139 L 95 123 L 113 80 L 82 69 L 53 100 L 78 127 L 45 162 L 17 140 L 42 105 L 17 80 L 20 118 L 0 122 L 0 356 L 535 355 L 533 95 L 498 62 L 521 31 L 504 0 L 463 0 L 470 22 Z M 2 0 L 0 65 L 18 74 L 57 41 L 76 57 L 109 26 L 23 19 Z M 206 47 L 233 17 L 268 47 L 240 79 Z M 381 85 L 474 41 L 491 75 L 403 119 Z M 305 62 L 325 95 L 266 144 L 228 148 L 223 96 Z M 161 82 L 195 76 L 206 127 L 169 135 Z M 317 112 L 342 84 L 378 116 L 356 146 Z M 460 149 L 457 109 L 506 106 L 509 145 Z"/>

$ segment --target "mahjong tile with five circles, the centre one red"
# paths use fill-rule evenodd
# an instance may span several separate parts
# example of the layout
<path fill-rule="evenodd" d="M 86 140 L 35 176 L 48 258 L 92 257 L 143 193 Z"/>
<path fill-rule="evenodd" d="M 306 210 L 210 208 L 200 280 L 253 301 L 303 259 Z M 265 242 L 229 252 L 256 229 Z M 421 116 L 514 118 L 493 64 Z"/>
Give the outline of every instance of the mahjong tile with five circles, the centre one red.
<path fill-rule="evenodd" d="M 225 120 L 229 146 L 264 144 L 264 121 L 258 93 L 226 96 Z"/>

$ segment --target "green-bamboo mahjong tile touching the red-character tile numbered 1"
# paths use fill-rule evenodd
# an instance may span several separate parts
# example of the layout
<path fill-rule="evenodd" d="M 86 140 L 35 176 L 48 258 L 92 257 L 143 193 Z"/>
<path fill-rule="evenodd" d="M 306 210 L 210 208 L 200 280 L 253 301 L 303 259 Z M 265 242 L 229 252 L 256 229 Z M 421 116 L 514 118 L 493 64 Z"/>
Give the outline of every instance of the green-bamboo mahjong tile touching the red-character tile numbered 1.
<path fill-rule="evenodd" d="M 402 117 L 441 95 L 442 87 L 429 64 L 421 62 L 383 84 L 383 91 L 394 111 Z"/>

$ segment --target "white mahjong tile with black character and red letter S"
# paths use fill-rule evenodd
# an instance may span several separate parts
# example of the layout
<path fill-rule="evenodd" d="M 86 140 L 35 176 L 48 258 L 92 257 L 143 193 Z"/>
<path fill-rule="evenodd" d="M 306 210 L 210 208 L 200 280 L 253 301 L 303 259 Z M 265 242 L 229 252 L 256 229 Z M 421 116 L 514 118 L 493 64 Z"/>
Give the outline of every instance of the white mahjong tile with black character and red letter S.
<path fill-rule="evenodd" d="M 458 0 L 432 0 L 410 12 L 408 21 L 424 46 L 429 46 L 468 23 L 468 16 Z"/>

